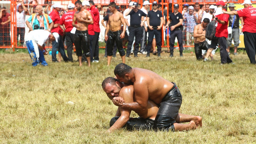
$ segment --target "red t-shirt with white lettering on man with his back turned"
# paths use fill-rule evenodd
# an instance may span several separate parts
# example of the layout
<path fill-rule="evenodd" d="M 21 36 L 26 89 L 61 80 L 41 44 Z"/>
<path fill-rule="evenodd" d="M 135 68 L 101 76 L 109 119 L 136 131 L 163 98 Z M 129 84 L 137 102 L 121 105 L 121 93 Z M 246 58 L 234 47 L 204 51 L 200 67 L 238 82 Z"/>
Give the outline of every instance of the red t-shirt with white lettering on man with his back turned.
<path fill-rule="evenodd" d="M 74 10 L 69 10 L 65 14 L 62 15 L 60 18 L 60 25 L 65 25 L 65 32 L 70 32 L 74 26 L 72 26 L 73 17 L 74 17 Z"/>

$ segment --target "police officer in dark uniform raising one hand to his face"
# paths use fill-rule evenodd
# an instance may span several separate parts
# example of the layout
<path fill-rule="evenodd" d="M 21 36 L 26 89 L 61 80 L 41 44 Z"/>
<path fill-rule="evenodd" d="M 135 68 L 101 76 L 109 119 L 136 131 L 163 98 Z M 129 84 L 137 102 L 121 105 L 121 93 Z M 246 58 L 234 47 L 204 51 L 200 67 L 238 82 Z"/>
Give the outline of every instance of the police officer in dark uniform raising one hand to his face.
<path fill-rule="evenodd" d="M 130 56 L 132 42 L 135 36 L 135 46 L 134 46 L 134 57 L 138 57 L 139 44 L 143 33 L 142 26 L 144 25 L 144 17 L 147 16 L 142 10 L 138 9 L 138 3 L 134 2 L 132 8 L 126 12 L 125 16 L 130 15 L 130 34 L 128 36 L 128 45 L 126 51 L 126 57 Z"/>

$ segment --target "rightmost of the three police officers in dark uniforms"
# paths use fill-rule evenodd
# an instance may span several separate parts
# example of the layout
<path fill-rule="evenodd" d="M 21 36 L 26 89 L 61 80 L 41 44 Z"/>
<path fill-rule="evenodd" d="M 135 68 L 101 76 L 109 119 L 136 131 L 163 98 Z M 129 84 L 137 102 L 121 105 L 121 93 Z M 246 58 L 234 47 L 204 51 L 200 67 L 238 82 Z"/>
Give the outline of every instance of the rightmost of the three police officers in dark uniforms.
<path fill-rule="evenodd" d="M 170 42 L 170 57 L 173 57 L 173 50 L 174 50 L 174 42 L 175 42 L 175 38 L 177 37 L 178 39 L 178 44 L 180 47 L 180 57 L 182 57 L 182 52 L 183 52 L 183 45 L 182 45 L 182 22 L 183 22 L 183 17 L 182 14 L 180 12 L 178 12 L 179 9 L 179 5 L 178 4 L 174 4 L 174 10 L 173 13 L 170 14 L 170 18 L 166 24 L 166 29 L 169 27 L 169 24 L 171 23 L 170 26 L 170 38 L 169 38 L 169 42 Z"/>

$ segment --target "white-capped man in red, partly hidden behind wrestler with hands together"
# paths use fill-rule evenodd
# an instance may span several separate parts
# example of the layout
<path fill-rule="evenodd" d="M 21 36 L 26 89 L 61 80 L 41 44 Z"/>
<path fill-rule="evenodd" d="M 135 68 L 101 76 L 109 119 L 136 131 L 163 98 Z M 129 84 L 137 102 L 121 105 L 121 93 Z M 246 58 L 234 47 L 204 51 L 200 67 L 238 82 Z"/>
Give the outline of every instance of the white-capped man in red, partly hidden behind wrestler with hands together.
<path fill-rule="evenodd" d="M 84 9 L 88 10 L 91 14 L 92 14 L 92 20 L 94 20 L 94 14 L 92 13 L 92 11 L 90 10 L 90 3 L 88 0 L 84 0 L 82 2 L 82 6 L 84 7 Z M 90 60 L 91 62 L 93 62 L 93 56 L 92 56 L 92 46 L 93 46 L 93 38 L 94 38 L 94 24 L 88 24 L 88 34 L 89 34 L 89 38 L 90 38 Z M 82 61 L 86 60 L 86 56 L 83 54 L 82 57 Z"/>

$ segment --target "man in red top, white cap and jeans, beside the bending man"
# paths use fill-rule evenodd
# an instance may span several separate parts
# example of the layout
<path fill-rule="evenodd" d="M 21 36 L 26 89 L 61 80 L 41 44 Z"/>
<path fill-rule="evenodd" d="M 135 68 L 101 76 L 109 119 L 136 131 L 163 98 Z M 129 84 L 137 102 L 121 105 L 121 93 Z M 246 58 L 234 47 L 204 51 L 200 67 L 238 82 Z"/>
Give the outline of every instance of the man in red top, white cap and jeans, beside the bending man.
<path fill-rule="evenodd" d="M 68 62 L 68 57 L 65 54 L 64 44 L 63 44 L 63 41 L 62 41 L 62 38 L 61 38 L 61 36 L 63 36 L 63 31 L 62 31 L 62 29 L 60 28 L 60 25 L 59 25 L 59 23 L 60 23 L 59 12 L 62 8 L 62 5 L 60 3 L 56 3 L 56 4 L 53 5 L 53 8 L 54 9 L 49 14 L 50 18 L 54 22 L 54 26 L 53 26 L 51 32 L 52 33 L 57 32 L 60 35 L 60 37 L 58 38 L 58 42 L 56 42 L 56 41 L 52 42 L 52 62 L 58 62 L 57 58 L 56 58 L 57 50 L 59 50 L 63 60 L 65 62 Z"/>

